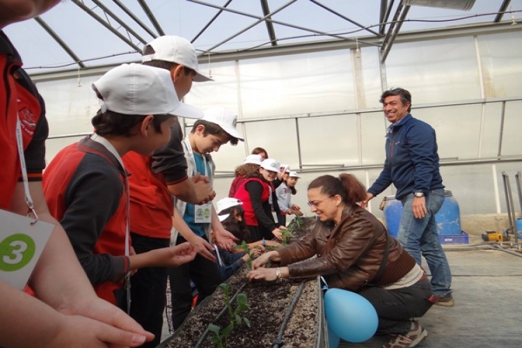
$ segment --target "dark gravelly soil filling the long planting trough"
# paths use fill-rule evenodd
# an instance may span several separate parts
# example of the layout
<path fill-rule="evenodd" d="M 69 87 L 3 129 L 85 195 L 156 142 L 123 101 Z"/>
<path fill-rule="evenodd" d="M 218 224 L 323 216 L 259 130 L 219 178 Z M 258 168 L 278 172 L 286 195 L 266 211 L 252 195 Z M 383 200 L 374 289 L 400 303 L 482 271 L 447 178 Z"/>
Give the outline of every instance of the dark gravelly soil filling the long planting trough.
<path fill-rule="evenodd" d="M 299 228 L 294 226 L 294 238 L 306 234 L 313 227 L 314 221 L 313 218 L 306 218 L 303 219 Z M 228 285 L 230 286 L 230 296 L 233 296 L 244 285 L 241 292 L 246 294 L 248 306 L 251 309 L 241 315 L 248 318 L 251 327 L 248 328 L 245 324 L 236 326 L 228 337 L 228 347 L 273 347 L 287 310 L 290 309 L 290 304 L 294 299 L 294 294 L 303 280 L 248 282 L 246 280 L 247 272 L 246 267 L 240 269 L 228 280 Z M 283 342 L 280 342 L 278 347 L 313 347 L 315 343 L 317 315 L 319 314 L 317 310 L 319 290 L 316 278 L 306 280 L 305 283 L 292 317 L 287 323 L 287 329 L 282 338 Z M 234 301 L 233 306 L 235 304 Z M 228 313 L 223 315 L 219 321 L 215 319 L 224 306 L 223 292 L 218 289 L 193 310 L 182 327 L 162 347 L 195 347 L 208 324 L 214 323 L 221 328 L 228 324 Z M 200 347 L 216 347 L 210 340 L 212 335 L 213 333 L 208 333 L 205 342 Z"/>

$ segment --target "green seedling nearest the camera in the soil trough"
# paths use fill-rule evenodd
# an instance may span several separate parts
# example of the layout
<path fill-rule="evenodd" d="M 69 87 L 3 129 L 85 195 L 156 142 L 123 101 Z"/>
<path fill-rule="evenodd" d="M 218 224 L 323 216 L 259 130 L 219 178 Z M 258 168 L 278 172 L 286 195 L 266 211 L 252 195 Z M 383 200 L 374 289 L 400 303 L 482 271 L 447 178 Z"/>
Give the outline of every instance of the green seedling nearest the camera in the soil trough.
<path fill-rule="evenodd" d="M 250 327 L 250 321 L 246 317 L 242 317 L 241 313 L 250 310 L 248 307 L 248 299 L 246 298 L 246 294 L 243 292 L 237 294 L 236 303 L 237 306 L 234 308 L 232 306 L 232 301 L 230 301 L 230 287 L 228 284 L 221 284 L 219 288 L 223 290 L 223 294 L 225 296 L 225 303 L 228 311 L 228 325 L 225 329 L 221 330 L 221 328 L 215 324 L 209 324 L 209 330 L 214 333 L 212 336 L 212 342 L 218 348 L 228 348 L 228 336 L 232 333 L 235 326 L 239 326 L 244 323 L 246 326 Z"/>

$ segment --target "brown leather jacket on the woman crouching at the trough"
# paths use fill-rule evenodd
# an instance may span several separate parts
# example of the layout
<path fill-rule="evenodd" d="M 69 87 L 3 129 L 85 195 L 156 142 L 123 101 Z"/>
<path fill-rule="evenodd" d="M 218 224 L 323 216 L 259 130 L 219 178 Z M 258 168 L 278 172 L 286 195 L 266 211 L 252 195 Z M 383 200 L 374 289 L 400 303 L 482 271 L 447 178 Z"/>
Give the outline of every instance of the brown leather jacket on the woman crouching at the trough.
<path fill-rule="evenodd" d="M 357 291 L 368 283 L 379 286 L 395 283 L 415 266 L 415 260 L 389 237 L 386 268 L 374 280 L 383 260 L 387 235 L 375 216 L 356 205 L 343 210 L 338 226 L 317 219 L 308 235 L 278 253 L 281 265 L 288 265 L 290 278 L 322 275 L 329 287 Z M 312 258 L 314 255 L 317 258 Z M 301 260 L 304 261 L 294 263 Z"/>

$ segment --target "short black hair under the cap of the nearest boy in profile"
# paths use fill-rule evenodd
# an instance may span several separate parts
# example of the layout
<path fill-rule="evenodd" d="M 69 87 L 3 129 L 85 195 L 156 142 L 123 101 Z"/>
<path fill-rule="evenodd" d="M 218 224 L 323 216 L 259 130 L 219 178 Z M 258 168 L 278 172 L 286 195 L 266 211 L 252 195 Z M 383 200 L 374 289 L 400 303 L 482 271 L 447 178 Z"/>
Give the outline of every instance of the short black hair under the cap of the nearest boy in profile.
<path fill-rule="evenodd" d="M 94 126 L 95 132 L 98 135 L 119 135 L 119 136 L 134 136 L 131 129 L 139 122 L 142 122 L 146 116 L 138 115 L 125 115 L 123 113 L 117 113 L 111 110 L 102 112 L 98 110 L 96 116 L 94 116 L 90 123 Z M 173 118 L 172 115 L 154 115 L 152 120 L 152 126 L 155 131 L 161 133 L 161 123 Z"/>

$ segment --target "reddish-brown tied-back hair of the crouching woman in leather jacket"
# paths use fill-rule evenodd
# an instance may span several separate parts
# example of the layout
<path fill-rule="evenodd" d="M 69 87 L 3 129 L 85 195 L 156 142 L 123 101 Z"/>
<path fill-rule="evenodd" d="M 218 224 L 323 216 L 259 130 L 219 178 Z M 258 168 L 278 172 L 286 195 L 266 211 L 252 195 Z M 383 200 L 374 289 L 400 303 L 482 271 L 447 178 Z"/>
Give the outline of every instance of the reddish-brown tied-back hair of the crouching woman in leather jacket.
<path fill-rule="evenodd" d="M 354 175 L 348 173 L 342 173 L 339 177 L 322 175 L 308 185 L 308 189 L 319 188 L 326 196 L 341 196 L 346 205 L 356 205 L 366 199 L 364 185 Z"/>

